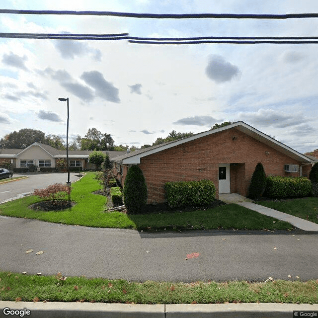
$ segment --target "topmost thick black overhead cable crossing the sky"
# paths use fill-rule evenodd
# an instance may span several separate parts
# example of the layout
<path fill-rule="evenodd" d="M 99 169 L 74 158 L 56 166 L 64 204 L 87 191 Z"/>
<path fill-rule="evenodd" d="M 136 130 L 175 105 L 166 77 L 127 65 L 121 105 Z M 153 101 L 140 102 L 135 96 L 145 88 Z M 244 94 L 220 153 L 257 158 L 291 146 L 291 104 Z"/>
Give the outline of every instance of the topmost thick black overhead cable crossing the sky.
<path fill-rule="evenodd" d="M 152 19 L 303 19 L 318 18 L 318 13 L 287 13 L 287 14 L 253 14 L 253 13 L 133 13 L 114 11 L 68 11 L 68 10 L 13 10 L 0 9 L 0 13 L 8 14 L 58 14 L 58 15 L 105 15 Z"/>

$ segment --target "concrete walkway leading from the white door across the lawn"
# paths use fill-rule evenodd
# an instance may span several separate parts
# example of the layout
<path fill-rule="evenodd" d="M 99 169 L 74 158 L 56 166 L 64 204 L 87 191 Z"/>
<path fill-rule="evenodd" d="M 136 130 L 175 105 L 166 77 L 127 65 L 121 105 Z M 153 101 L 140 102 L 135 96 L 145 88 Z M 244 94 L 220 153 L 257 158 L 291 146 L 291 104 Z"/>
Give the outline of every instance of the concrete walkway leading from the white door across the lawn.
<path fill-rule="evenodd" d="M 235 203 L 247 209 L 267 215 L 269 217 L 288 222 L 298 229 L 304 231 L 318 232 L 318 224 L 316 223 L 309 222 L 307 220 L 274 209 L 270 209 L 259 204 L 255 204 L 251 199 L 245 198 L 237 193 L 222 193 L 219 194 L 219 199 L 227 204 Z"/>

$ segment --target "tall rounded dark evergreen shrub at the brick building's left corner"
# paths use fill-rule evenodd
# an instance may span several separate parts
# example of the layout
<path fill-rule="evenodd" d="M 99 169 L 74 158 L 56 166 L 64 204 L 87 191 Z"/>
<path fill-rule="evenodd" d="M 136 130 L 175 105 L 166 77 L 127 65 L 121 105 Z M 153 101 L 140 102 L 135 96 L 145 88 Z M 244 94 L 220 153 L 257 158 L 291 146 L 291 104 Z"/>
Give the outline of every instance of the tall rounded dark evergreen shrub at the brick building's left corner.
<path fill-rule="evenodd" d="M 123 196 L 127 214 L 141 213 L 147 204 L 147 184 L 143 171 L 138 165 L 128 169 Z"/>

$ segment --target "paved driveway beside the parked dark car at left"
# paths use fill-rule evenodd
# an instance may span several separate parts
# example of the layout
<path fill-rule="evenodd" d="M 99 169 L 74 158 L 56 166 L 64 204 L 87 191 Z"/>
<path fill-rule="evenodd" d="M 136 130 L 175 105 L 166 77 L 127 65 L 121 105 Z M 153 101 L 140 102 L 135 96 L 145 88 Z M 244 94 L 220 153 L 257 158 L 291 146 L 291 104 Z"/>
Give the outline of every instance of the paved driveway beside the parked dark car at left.
<path fill-rule="evenodd" d="M 71 183 L 78 180 L 78 172 L 70 173 Z M 14 174 L 13 176 L 19 176 L 20 174 Z M 33 192 L 35 189 L 46 188 L 50 184 L 54 183 L 66 183 L 68 180 L 68 173 L 35 173 L 35 174 L 24 174 L 28 178 L 0 183 L 0 203 L 10 201 L 13 199 L 21 198 Z"/>

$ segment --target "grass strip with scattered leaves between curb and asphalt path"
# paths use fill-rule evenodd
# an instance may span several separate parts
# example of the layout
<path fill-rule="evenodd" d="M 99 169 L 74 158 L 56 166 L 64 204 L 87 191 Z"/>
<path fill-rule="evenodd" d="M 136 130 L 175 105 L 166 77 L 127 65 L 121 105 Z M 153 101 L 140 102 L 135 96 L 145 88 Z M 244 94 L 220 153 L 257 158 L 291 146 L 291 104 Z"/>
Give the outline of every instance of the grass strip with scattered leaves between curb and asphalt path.
<path fill-rule="evenodd" d="M 0 272 L 1 301 L 134 304 L 318 303 L 318 281 L 144 283 Z"/>

